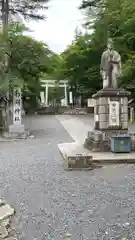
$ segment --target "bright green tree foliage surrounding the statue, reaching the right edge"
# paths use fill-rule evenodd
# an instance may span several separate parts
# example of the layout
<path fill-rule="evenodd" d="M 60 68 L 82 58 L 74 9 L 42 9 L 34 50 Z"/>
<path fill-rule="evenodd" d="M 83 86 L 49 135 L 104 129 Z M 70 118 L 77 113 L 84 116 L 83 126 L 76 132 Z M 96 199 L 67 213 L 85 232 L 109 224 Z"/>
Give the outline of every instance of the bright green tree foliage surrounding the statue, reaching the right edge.
<path fill-rule="evenodd" d="M 76 37 L 61 54 L 63 76 L 70 80 L 71 85 L 80 88 L 85 96 L 91 96 L 100 89 L 100 58 L 108 37 L 111 37 L 115 49 L 122 56 L 119 85 L 135 96 L 135 1 L 83 0 L 80 9 L 85 10 L 87 29 L 92 28 L 92 33 Z"/>

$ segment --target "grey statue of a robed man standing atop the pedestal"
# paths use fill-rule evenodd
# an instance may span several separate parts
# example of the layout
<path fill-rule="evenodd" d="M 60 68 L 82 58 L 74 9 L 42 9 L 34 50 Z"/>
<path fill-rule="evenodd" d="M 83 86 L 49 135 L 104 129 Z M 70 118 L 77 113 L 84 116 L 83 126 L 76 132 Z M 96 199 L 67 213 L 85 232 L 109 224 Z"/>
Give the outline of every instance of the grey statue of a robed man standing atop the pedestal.
<path fill-rule="evenodd" d="M 103 88 L 117 88 L 117 79 L 121 75 L 121 56 L 113 49 L 113 42 L 108 40 L 107 50 L 101 57 L 100 72 Z"/>

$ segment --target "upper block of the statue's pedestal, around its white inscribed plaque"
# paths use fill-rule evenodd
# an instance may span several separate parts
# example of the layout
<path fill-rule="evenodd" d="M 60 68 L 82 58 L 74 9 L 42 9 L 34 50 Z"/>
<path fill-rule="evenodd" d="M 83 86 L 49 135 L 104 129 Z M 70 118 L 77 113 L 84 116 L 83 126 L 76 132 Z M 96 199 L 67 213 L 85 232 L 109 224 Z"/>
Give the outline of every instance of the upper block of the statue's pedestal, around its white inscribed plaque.
<path fill-rule="evenodd" d="M 97 130 L 128 130 L 128 96 L 130 93 L 123 89 L 102 89 L 93 95 L 95 99 L 94 119 Z M 116 125 L 110 123 L 110 103 L 118 103 Z M 112 122 L 112 121 L 111 121 Z"/>

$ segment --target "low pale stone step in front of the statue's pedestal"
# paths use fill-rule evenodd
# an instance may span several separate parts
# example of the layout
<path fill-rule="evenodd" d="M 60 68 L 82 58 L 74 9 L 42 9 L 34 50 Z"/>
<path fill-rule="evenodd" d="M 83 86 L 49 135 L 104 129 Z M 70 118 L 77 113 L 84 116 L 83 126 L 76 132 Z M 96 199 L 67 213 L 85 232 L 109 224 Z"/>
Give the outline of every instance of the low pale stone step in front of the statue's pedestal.
<path fill-rule="evenodd" d="M 92 152 L 85 149 L 78 142 L 60 143 L 58 148 L 67 167 L 76 168 L 80 164 L 81 168 L 91 168 L 91 166 L 105 164 L 133 164 L 135 163 L 135 153 L 112 153 L 112 152 Z"/>

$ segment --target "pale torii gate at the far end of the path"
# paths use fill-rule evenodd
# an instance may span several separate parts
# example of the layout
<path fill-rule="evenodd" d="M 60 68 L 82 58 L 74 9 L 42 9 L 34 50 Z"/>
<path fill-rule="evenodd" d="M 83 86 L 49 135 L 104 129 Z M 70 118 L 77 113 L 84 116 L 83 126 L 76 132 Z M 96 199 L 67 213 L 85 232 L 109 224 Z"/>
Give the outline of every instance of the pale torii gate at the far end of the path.
<path fill-rule="evenodd" d="M 48 106 L 48 88 L 58 86 L 58 87 L 64 88 L 65 106 L 68 106 L 68 95 L 67 95 L 68 80 L 57 81 L 57 80 L 41 79 L 41 86 L 45 88 L 45 91 L 40 93 L 42 104 L 45 104 L 46 106 Z"/>

